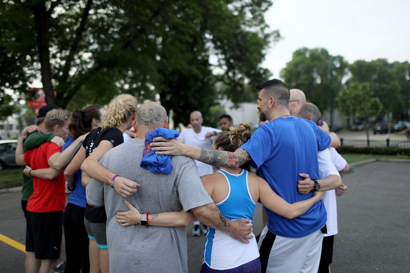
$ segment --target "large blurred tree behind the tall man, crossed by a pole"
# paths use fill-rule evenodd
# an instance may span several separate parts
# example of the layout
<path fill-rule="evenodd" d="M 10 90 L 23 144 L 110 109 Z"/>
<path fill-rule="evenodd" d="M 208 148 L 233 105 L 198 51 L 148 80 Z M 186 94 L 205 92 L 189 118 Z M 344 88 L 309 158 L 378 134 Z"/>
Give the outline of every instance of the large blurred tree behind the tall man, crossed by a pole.
<path fill-rule="evenodd" d="M 303 47 L 293 53 L 280 77 L 289 88 L 302 90 L 309 102 L 324 111 L 329 107 L 330 70 L 333 74 L 333 97 L 336 97 L 344 87 L 347 67 L 348 63 L 342 56 L 332 57 L 324 48 Z"/>

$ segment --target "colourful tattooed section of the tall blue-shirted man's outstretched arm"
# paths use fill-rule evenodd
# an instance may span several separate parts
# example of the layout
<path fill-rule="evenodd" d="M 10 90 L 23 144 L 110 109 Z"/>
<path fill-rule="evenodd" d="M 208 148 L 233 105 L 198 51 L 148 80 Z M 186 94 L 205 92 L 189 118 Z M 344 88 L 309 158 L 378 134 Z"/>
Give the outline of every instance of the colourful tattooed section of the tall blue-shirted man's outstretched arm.
<path fill-rule="evenodd" d="M 251 160 L 251 156 L 241 148 L 235 152 L 201 149 L 198 160 L 212 166 L 234 169 Z"/>

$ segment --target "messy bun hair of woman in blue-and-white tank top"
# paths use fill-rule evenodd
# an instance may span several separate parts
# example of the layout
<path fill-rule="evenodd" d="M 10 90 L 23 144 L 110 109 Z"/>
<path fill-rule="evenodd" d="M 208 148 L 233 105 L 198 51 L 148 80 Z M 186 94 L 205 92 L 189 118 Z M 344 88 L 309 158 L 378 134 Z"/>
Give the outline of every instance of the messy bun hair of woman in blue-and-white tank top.
<path fill-rule="evenodd" d="M 221 147 L 224 151 L 234 152 L 251 137 L 252 126 L 248 123 L 241 123 L 236 127 L 231 127 L 230 131 L 219 133 L 215 140 L 215 148 Z"/>

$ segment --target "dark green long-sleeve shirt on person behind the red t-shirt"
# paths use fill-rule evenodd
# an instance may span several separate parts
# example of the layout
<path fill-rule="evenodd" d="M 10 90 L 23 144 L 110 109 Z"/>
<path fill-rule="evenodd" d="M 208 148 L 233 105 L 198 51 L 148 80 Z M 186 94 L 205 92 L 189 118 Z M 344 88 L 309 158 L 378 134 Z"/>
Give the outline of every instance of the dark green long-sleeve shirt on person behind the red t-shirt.
<path fill-rule="evenodd" d="M 44 142 L 50 142 L 52 138 L 55 137 L 55 134 L 49 133 L 39 133 L 34 132 L 27 136 L 26 140 L 23 143 L 24 151 L 35 149 L 40 147 Z M 24 170 L 25 167 L 21 169 Z M 23 189 L 21 190 L 21 200 L 27 201 L 29 197 L 33 194 L 33 178 L 23 174 Z"/>

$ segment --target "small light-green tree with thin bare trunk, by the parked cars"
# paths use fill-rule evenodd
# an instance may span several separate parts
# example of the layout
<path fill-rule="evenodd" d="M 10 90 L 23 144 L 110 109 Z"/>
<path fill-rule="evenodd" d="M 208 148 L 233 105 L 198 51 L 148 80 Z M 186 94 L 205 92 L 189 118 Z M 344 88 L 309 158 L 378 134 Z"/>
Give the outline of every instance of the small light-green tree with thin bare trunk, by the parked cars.
<path fill-rule="evenodd" d="M 339 92 L 336 97 L 338 109 L 345 117 L 355 115 L 364 119 L 366 127 L 367 146 L 369 141 L 369 117 L 378 116 L 383 105 L 377 97 L 373 97 L 373 90 L 369 83 L 351 83 L 349 88 Z"/>

